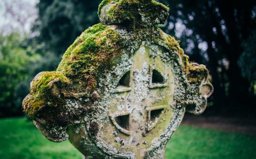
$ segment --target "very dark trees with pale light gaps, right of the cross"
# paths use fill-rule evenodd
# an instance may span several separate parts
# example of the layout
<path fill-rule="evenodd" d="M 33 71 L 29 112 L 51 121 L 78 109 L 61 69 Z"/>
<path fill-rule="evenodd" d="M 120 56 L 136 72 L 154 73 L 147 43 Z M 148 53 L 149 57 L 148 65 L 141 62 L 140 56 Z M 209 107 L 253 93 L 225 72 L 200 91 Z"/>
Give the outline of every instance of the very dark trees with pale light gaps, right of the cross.
<path fill-rule="evenodd" d="M 242 76 L 237 61 L 245 51 L 242 44 L 255 30 L 255 1 L 160 2 L 170 7 L 165 31 L 180 36 L 181 45 L 191 59 L 210 69 L 215 108 L 248 111 L 253 98 L 255 101 L 255 96 L 249 94 L 252 81 Z"/>

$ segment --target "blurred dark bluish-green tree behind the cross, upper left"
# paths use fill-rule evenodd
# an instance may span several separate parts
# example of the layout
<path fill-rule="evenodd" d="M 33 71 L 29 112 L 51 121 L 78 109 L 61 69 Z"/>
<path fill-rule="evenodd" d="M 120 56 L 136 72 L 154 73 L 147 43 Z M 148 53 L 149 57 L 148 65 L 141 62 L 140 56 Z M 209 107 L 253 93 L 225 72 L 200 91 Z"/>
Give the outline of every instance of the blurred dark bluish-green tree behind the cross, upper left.
<path fill-rule="evenodd" d="M 97 1 L 54 0 L 40 1 L 39 16 L 34 27 L 38 40 L 46 49 L 62 55 L 82 31 L 99 22 Z"/>

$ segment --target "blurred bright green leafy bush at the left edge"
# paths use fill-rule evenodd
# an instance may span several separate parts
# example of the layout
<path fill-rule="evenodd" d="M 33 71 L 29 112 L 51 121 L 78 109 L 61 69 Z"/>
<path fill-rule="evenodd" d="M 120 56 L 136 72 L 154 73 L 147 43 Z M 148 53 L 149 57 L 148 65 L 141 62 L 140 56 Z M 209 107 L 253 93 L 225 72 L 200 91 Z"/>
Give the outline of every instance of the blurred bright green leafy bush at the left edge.
<path fill-rule="evenodd" d="M 22 113 L 21 102 L 29 92 L 29 64 L 40 58 L 31 48 L 22 47 L 23 41 L 19 33 L 0 35 L 0 117 Z"/>

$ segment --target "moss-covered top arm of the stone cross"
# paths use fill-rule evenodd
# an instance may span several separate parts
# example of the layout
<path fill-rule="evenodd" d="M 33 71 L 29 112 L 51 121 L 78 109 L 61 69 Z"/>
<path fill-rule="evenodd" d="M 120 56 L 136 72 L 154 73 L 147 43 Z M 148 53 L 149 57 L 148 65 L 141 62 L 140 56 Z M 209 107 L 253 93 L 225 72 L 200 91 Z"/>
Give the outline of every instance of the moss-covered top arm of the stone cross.
<path fill-rule="evenodd" d="M 103 0 L 98 15 L 105 24 L 147 28 L 165 23 L 168 11 L 167 6 L 155 0 Z"/>

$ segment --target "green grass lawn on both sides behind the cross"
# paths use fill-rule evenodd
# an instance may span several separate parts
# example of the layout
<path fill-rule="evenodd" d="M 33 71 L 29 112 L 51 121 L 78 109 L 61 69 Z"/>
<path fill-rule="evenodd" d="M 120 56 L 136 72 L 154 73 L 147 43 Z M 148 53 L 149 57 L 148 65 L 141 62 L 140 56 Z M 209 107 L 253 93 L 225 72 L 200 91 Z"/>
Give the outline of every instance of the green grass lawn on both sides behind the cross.
<path fill-rule="evenodd" d="M 79 158 L 68 142 L 52 143 L 25 118 L 0 120 L 0 158 Z M 256 135 L 180 126 L 166 158 L 256 158 Z"/>

